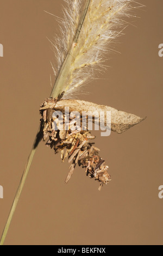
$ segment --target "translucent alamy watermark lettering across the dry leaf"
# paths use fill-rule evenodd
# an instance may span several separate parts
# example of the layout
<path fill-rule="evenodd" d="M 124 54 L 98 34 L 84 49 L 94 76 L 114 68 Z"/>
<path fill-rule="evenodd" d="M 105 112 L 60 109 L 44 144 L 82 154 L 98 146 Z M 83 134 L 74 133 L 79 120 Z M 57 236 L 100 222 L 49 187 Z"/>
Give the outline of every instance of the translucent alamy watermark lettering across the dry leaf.
<path fill-rule="evenodd" d="M 111 111 L 83 111 L 80 114 L 78 111 L 70 113 L 69 107 L 65 107 L 64 114 L 61 111 L 55 111 L 52 115 L 54 120 L 53 130 L 55 131 L 99 131 L 101 129 L 101 136 L 110 136 L 111 133 Z"/>

